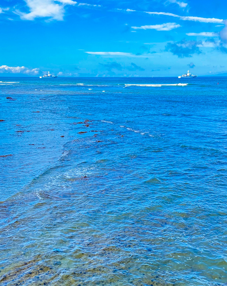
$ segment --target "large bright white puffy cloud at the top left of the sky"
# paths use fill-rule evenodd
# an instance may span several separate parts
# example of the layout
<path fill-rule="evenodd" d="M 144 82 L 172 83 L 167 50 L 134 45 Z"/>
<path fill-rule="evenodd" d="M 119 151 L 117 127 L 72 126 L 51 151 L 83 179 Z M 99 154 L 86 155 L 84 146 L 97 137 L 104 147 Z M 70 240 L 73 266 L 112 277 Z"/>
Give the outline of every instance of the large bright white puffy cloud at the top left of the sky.
<path fill-rule="evenodd" d="M 29 8 L 29 13 L 16 11 L 23 20 L 34 20 L 37 17 L 48 17 L 54 20 L 63 20 L 65 5 L 75 5 L 72 0 L 25 0 Z M 59 2 L 59 3 L 56 3 Z"/>

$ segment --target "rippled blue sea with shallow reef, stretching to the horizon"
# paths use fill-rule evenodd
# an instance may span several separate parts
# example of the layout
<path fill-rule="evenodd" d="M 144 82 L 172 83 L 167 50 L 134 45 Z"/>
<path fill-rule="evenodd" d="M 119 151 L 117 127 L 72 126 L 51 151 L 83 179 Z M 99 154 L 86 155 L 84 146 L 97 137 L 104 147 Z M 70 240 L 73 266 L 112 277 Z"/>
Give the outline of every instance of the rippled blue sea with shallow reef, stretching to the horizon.
<path fill-rule="evenodd" d="M 0 285 L 227 285 L 227 78 L 0 81 Z"/>

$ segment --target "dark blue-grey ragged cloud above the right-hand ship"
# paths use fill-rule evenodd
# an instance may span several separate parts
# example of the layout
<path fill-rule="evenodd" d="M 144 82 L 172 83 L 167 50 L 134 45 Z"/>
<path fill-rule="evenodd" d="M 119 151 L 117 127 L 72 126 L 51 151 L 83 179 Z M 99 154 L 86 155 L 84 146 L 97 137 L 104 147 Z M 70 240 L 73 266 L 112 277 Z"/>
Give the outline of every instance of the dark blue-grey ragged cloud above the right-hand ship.
<path fill-rule="evenodd" d="M 167 43 L 165 51 L 169 51 L 178 57 L 191 57 L 192 54 L 200 54 L 201 51 L 198 44 L 202 44 L 201 41 L 186 41 L 185 39 L 175 42 Z"/>

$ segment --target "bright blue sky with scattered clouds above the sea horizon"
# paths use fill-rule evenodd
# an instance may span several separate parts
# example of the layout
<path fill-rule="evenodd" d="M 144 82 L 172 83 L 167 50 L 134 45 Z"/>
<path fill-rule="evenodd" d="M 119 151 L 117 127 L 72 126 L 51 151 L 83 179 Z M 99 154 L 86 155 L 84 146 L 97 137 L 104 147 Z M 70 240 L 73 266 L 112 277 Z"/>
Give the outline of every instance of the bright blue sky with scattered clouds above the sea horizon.
<path fill-rule="evenodd" d="M 0 76 L 224 74 L 226 19 L 224 0 L 0 0 Z"/>

